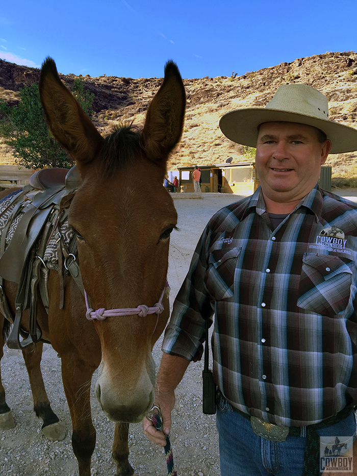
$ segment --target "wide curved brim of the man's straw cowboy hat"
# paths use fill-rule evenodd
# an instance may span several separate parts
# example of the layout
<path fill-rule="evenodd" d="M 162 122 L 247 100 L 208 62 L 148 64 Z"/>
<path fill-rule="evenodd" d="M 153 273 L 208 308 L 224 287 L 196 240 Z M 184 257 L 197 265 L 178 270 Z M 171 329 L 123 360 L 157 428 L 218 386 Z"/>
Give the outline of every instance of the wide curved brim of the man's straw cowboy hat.
<path fill-rule="evenodd" d="M 332 143 L 330 154 L 357 150 L 357 130 L 338 122 L 304 116 L 294 112 L 269 108 L 247 108 L 228 112 L 221 117 L 219 127 L 223 134 L 238 144 L 256 147 L 258 127 L 264 122 L 297 122 L 316 127 Z"/>

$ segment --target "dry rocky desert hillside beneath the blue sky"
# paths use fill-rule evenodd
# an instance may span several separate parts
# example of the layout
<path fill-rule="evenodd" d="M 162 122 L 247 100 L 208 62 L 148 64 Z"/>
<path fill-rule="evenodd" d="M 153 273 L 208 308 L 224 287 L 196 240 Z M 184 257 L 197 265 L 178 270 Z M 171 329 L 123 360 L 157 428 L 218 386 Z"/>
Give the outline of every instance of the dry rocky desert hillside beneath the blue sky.
<path fill-rule="evenodd" d="M 164 66 L 164 65 L 163 65 Z M 180 66 L 180 65 L 179 65 Z M 238 66 L 238 64 L 237 64 Z M 73 74 L 61 75 L 71 85 Z M 0 97 L 9 104 L 18 102 L 19 89 L 39 79 L 39 69 L 0 60 Z M 118 78 L 85 76 L 86 88 L 95 94 L 93 121 L 102 134 L 113 124 L 143 123 L 145 111 L 162 78 Z M 180 165 L 218 164 L 228 157 L 233 162 L 250 160 L 245 151 L 226 139 L 219 130 L 219 118 L 232 109 L 265 106 L 280 84 L 305 83 L 322 91 L 329 100 L 330 118 L 357 128 L 357 54 L 325 53 L 297 58 L 243 76 L 185 79 L 186 122 L 182 141 L 173 153 L 169 170 Z M 0 161 L 13 163 L 12 151 L 2 144 Z M 334 177 L 357 177 L 357 153 L 331 155 Z"/>

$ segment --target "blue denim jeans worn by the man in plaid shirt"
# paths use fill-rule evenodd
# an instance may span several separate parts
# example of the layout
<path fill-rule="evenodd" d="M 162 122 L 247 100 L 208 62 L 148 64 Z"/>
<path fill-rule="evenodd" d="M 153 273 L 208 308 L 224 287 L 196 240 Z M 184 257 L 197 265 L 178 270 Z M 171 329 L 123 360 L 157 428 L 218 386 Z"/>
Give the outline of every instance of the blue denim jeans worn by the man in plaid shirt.
<path fill-rule="evenodd" d="M 306 438 L 288 436 L 270 441 L 256 435 L 250 421 L 224 400 L 217 406 L 221 476 L 302 476 Z M 316 432 L 319 436 L 353 436 L 354 413 Z"/>

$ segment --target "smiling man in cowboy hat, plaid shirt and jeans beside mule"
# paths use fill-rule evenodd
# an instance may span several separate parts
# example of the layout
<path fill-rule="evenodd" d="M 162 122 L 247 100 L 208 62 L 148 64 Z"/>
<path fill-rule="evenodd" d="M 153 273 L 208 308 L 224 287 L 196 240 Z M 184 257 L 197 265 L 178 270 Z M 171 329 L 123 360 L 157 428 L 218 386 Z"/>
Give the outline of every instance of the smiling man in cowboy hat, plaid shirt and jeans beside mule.
<path fill-rule="evenodd" d="M 261 187 L 209 221 L 165 331 L 156 405 L 170 430 L 174 389 L 212 321 L 222 476 L 317 476 L 319 438 L 354 435 L 357 205 L 318 186 L 327 155 L 357 149 L 326 97 L 283 85 L 265 108 L 220 120 L 256 146 Z M 146 435 L 164 434 L 144 420 Z"/>

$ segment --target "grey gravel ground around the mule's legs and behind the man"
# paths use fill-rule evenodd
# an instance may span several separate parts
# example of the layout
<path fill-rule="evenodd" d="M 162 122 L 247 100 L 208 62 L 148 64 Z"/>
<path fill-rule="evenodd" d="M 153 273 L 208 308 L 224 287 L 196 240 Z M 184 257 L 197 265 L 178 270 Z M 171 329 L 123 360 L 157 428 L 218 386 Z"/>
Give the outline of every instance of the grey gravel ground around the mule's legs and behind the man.
<path fill-rule="evenodd" d="M 189 194 L 187 194 L 188 196 Z M 191 195 L 191 194 L 190 194 Z M 175 197 L 179 198 L 179 197 Z M 179 231 L 171 235 L 168 280 L 171 303 L 187 273 L 193 250 L 210 217 L 237 195 L 202 194 L 202 199 L 175 199 L 179 214 Z M 154 348 L 157 365 L 161 359 L 161 341 Z M 43 379 L 54 412 L 67 430 L 63 441 L 50 442 L 41 432 L 36 419 L 27 371 L 19 350 L 4 348 L 1 362 L 7 403 L 12 409 L 16 427 L 0 431 L 1 476 L 74 476 L 78 474 L 77 460 L 71 446 L 71 420 L 61 381 L 61 362 L 52 347 L 45 344 L 41 363 Z M 174 466 L 179 476 L 219 476 L 218 438 L 214 415 L 202 414 L 202 362 L 190 364 L 176 391 L 173 410 L 171 444 Z M 92 385 L 92 418 L 97 432 L 92 457 L 92 474 L 115 474 L 111 458 L 114 423 L 107 420 L 97 404 Z M 149 442 L 141 424 L 130 426 L 130 462 L 136 476 L 165 475 L 166 459 L 163 450 Z"/>

